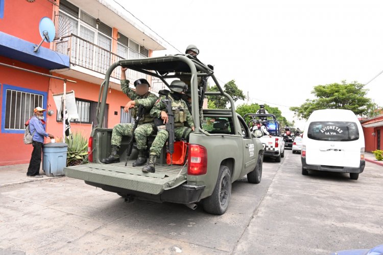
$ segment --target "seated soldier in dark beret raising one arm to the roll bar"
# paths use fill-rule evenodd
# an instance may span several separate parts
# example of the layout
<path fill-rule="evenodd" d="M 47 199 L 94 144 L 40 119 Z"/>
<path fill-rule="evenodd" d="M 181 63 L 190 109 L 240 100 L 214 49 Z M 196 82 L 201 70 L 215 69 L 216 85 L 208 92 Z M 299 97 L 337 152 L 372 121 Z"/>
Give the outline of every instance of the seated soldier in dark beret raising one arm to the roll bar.
<path fill-rule="evenodd" d="M 129 88 L 129 80 L 126 80 L 125 71 L 127 68 L 121 68 L 121 89 L 128 95 L 131 101 L 125 106 L 124 111 L 129 112 L 129 109 L 132 109 L 133 117 L 136 117 L 138 107 L 140 105 L 145 109 L 143 116 L 138 121 L 137 129 L 134 132 L 136 138 L 136 144 L 138 149 L 138 158 L 133 163 L 133 166 L 142 166 L 147 162 L 147 137 L 154 133 L 154 123 L 153 117 L 150 116 L 150 110 L 153 108 L 154 104 L 158 97 L 149 92 L 149 82 L 145 79 L 138 79 L 134 82 L 136 91 Z M 133 123 L 120 123 L 116 124 L 113 127 L 112 132 L 112 148 L 111 153 L 108 158 L 102 159 L 101 162 L 105 164 L 117 163 L 119 162 L 119 146 L 123 136 L 132 136 L 133 132 Z"/>

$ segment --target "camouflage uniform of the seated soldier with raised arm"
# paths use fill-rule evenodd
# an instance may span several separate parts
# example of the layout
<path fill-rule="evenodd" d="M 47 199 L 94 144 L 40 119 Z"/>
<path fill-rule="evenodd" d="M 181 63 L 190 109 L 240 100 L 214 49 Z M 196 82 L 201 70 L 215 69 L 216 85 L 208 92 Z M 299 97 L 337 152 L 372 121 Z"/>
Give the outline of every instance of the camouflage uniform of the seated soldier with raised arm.
<path fill-rule="evenodd" d="M 143 116 L 138 121 L 137 129 L 134 132 L 137 149 L 145 150 L 147 149 L 147 137 L 154 133 L 153 117 L 150 116 L 149 113 L 158 97 L 151 92 L 148 92 L 146 95 L 137 95 L 133 89 L 129 88 L 129 80 L 121 80 L 121 89 L 130 99 L 135 101 L 135 106 L 132 109 L 134 118 L 136 117 L 140 105 L 145 109 Z M 123 136 L 133 135 L 133 126 L 133 123 L 116 124 L 113 127 L 111 144 L 119 147 Z"/>

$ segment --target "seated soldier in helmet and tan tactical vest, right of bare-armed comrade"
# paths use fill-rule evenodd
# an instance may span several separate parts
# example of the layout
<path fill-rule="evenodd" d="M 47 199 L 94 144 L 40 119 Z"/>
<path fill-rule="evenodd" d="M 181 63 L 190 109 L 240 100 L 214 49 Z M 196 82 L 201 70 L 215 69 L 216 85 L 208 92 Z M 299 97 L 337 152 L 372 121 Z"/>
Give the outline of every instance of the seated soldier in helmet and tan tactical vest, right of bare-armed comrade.
<path fill-rule="evenodd" d="M 194 131 L 194 122 L 192 114 L 190 114 L 187 109 L 185 101 L 182 99 L 183 95 L 187 91 L 187 85 L 182 81 L 173 81 L 169 86 L 171 93 L 169 98 L 172 99 L 172 108 L 174 114 L 174 135 L 176 139 L 185 139 L 189 138 L 190 133 Z M 150 111 L 152 117 L 161 118 L 163 123 L 167 123 L 167 109 L 165 104 L 162 102 L 164 97 L 161 97 L 157 100 L 153 109 Z M 184 126 L 185 122 L 191 127 Z M 167 138 L 169 138 L 169 133 L 165 130 L 159 130 L 156 138 L 153 141 L 152 146 L 150 147 L 150 158 L 148 164 L 142 168 L 142 172 L 155 172 L 155 163 L 157 158 L 160 155 L 161 149 L 165 144 Z"/>

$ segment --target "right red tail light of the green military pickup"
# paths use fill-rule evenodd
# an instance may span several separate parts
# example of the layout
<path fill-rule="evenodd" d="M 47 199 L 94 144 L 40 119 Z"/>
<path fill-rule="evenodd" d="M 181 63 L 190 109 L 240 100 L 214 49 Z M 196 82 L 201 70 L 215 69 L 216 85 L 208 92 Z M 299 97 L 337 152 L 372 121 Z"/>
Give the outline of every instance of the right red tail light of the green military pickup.
<path fill-rule="evenodd" d="M 189 144 L 187 174 L 202 175 L 207 172 L 207 150 L 198 144 Z"/>

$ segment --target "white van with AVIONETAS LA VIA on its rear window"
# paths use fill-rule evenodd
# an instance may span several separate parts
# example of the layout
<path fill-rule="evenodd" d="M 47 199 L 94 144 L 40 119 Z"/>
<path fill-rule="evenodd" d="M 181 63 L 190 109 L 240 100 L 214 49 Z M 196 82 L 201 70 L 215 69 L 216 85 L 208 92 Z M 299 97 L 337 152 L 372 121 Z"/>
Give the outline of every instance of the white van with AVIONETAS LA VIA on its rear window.
<path fill-rule="evenodd" d="M 357 180 L 365 168 L 362 125 L 349 110 L 314 111 L 306 122 L 302 141 L 302 174 L 308 170 L 350 173 Z"/>

